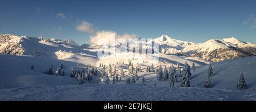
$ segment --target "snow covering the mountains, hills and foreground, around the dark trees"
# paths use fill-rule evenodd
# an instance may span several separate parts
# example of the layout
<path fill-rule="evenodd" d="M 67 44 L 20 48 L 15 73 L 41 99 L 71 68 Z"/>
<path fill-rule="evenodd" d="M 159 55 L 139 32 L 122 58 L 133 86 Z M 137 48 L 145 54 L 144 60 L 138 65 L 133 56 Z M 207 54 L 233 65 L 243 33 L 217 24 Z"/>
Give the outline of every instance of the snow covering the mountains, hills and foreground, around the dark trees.
<path fill-rule="evenodd" d="M 1 35 L 0 38 L 0 100 L 256 100 L 256 57 L 229 59 L 212 63 L 213 76 L 210 77 L 212 88 L 204 87 L 208 75 L 209 61 L 195 57 L 167 55 L 156 53 L 152 55 L 137 53 L 113 53 L 112 55 L 97 56 L 97 48 L 84 48 L 76 46 L 71 40 L 64 42 L 43 37 L 19 37 L 14 35 Z M 5 36 L 9 36 L 6 37 Z M 211 51 L 214 49 L 226 49 L 229 46 L 253 46 L 254 44 L 241 42 L 236 38 L 224 38 L 223 40 L 209 40 L 204 44 L 183 42 L 163 35 L 156 38 L 161 46 L 166 49 L 174 49 L 176 53 L 193 51 Z M 168 48 L 169 47 L 169 48 Z M 4 51 L 10 51 L 7 55 Z M 159 57 L 159 58 L 155 58 Z M 128 74 L 127 64 L 131 61 L 134 67 L 141 66 L 143 72 L 138 72 L 139 80 L 136 84 L 126 84 L 126 79 L 133 74 Z M 195 61 L 196 71 L 192 72 L 191 88 L 182 88 L 180 77 L 174 87 L 168 87 L 169 81 L 158 81 L 153 69 L 145 72 L 146 67 L 154 64 L 154 67 L 170 67 L 179 63 L 180 67 L 187 62 L 190 66 Z M 121 64 L 119 64 L 121 62 Z M 122 64 L 124 62 L 125 64 Z M 121 67 L 125 77 L 109 85 L 101 82 L 102 67 L 109 63 L 117 67 L 120 75 Z M 116 64 L 118 63 L 118 64 Z M 47 75 L 47 71 L 53 65 L 53 72 L 60 64 L 64 64 L 65 76 Z M 97 67 L 98 76 L 84 85 L 78 85 L 75 78 L 70 77 L 71 68 L 86 68 L 91 64 Z M 31 70 L 31 65 L 35 67 Z M 112 65 L 112 70 L 114 68 Z M 152 72 L 153 71 L 153 72 Z M 236 87 L 237 77 L 243 72 L 246 81 L 246 89 Z M 142 85 L 142 76 L 146 82 Z M 156 87 L 152 85 L 156 82 Z M 193 88 L 193 87 L 197 88 Z M 128 91 L 127 91 L 128 90 Z"/>

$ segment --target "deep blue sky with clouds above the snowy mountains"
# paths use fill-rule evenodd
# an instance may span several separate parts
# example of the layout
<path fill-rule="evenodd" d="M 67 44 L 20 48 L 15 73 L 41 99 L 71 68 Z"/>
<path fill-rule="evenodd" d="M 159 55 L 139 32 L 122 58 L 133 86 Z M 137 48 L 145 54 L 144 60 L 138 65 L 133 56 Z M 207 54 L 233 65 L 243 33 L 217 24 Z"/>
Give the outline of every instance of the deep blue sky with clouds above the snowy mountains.
<path fill-rule="evenodd" d="M 71 38 L 80 45 L 108 32 L 192 42 L 236 37 L 256 43 L 255 25 L 253 0 L 2 0 L 0 7 L 1 34 Z"/>

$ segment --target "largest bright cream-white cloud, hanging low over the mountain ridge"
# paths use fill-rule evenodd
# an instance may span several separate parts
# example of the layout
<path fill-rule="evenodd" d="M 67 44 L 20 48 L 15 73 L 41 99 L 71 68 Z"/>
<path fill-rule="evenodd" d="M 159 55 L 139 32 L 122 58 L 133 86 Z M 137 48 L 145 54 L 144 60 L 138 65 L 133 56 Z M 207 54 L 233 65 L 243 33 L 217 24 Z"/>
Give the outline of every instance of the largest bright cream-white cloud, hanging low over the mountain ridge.
<path fill-rule="evenodd" d="M 118 35 L 118 33 L 114 31 L 98 31 L 96 35 L 90 36 L 90 42 L 94 45 L 106 45 L 109 44 L 109 42 L 116 43 L 117 40 L 121 42 L 129 38 L 136 38 L 136 36 L 129 34 Z"/>

